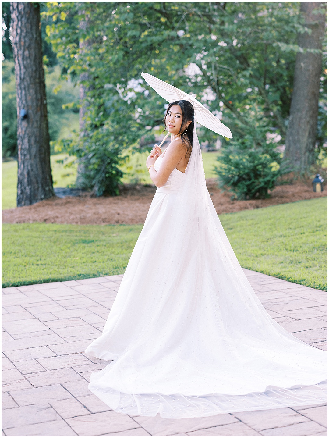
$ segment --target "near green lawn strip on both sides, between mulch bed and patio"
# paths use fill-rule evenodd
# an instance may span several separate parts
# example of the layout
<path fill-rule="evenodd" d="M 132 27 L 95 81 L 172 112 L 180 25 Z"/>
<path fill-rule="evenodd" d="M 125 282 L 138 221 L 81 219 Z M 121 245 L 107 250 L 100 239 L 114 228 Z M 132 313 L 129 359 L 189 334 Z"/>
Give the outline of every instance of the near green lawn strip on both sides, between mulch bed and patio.
<path fill-rule="evenodd" d="M 220 215 L 245 268 L 326 290 L 326 198 Z M 123 273 L 141 225 L 3 224 L 3 286 Z"/>

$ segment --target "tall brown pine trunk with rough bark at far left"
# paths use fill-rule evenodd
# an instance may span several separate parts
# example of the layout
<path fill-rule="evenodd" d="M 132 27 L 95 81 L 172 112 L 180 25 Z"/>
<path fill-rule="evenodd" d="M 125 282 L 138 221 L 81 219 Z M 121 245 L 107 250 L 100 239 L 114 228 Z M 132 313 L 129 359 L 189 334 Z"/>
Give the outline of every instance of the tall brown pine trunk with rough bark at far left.
<path fill-rule="evenodd" d="M 17 101 L 17 206 L 21 207 L 54 195 L 39 4 L 11 2 L 11 27 Z M 24 119 L 20 116 L 23 109 Z"/>

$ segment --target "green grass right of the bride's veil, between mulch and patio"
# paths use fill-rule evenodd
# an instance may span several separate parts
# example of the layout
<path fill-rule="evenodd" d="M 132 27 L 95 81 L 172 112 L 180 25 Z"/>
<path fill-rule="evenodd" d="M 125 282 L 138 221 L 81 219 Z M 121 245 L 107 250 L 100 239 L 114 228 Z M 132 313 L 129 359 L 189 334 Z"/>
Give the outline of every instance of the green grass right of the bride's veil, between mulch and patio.
<path fill-rule="evenodd" d="M 244 268 L 327 290 L 327 198 L 220 215 Z"/>

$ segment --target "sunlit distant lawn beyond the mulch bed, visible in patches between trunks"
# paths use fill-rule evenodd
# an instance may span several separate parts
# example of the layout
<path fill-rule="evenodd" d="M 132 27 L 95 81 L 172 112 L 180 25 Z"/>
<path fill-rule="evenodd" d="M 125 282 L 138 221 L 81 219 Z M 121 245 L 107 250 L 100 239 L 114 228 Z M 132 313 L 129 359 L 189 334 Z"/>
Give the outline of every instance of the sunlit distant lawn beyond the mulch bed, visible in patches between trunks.
<path fill-rule="evenodd" d="M 76 114 L 72 114 L 76 116 Z M 76 120 L 73 120 L 76 122 Z M 73 123 L 72 122 L 72 123 Z M 67 126 L 64 125 L 61 131 L 61 136 L 66 133 Z M 129 160 L 122 166 L 126 175 L 123 177 L 123 183 L 135 184 L 140 182 L 142 184 L 153 184 L 145 165 L 146 158 L 149 152 L 143 154 L 136 153 L 131 155 Z M 215 178 L 214 165 L 216 164 L 217 152 L 203 152 L 203 165 L 206 173 L 206 178 Z M 57 163 L 59 160 L 67 159 L 63 164 Z M 54 187 L 67 187 L 75 183 L 77 175 L 77 165 L 72 167 L 64 167 L 66 163 L 73 161 L 74 157 L 67 154 L 52 155 L 50 157 L 52 168 L 52 179 Z M 16 207 L 17 194 L 17 162 L 8 161 L 2 163 L 2 205 L 1 209 Z"/>

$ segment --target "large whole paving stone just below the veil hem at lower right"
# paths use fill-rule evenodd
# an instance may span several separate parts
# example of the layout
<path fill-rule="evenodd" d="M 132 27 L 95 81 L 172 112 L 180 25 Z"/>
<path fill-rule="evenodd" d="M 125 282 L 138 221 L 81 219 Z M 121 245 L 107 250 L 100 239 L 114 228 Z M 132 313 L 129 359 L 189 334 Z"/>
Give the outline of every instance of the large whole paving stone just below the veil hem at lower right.
<path fill-rule="evenodd" d="M 272 427 L 289 426 L 306 421 L 306 417 L 289 408 L 257 410 L 233 414 L 255 431 L 271 429 Z"/>

